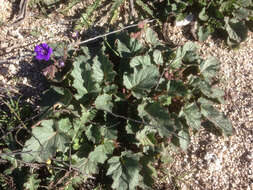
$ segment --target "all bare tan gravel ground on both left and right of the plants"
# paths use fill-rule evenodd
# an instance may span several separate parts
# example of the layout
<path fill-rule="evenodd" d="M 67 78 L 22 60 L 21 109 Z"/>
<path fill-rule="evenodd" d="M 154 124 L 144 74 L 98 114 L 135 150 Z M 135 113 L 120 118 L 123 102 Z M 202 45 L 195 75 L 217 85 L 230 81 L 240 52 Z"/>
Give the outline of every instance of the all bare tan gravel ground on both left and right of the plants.
<path fill-rule="evenodd" d="M 6 0 L 1 2 L 0 16 L 6 21 L 11 5 Z M 7 11 L 6 14 L 3 14 L 3 10 Z M 63 18 L 34 19 L 35 16 L 36 13 L 29 12 L 22 24 L 15 27 L 2 26 L 0 29 L 0 84 L 10 87 L 17 94 L 28 92 L 27 99 L 31 102 L 45 89 L 40 68 L 33 62 L 31 55 L 34 46 L 50 40 L 67 40 L 69 35 L 68 23 Z M 187 41 L 180 28 L 169 27 L 167 32 L 168 39 L 175 44 Z M 186 153 L 172 153 L 174 161 L 168 168 L 174 178 L 167 178 L 166 187 L 173 189 L 176 179 L 183 190 L 251 190 L 253 33 L 249 33 L 247 41 L 237 50 L 230 50 L 212 39 L 198 45 L 204 57 L 214 55 L 221 61 L 220 87 L 225 91 L 226 104 L 219 109 L 230 118 L 235 132 L 231 137 L 223 137 L 203 129 L 192 136 Z M 167 175 L 171 176 L 169 173 Z"/>

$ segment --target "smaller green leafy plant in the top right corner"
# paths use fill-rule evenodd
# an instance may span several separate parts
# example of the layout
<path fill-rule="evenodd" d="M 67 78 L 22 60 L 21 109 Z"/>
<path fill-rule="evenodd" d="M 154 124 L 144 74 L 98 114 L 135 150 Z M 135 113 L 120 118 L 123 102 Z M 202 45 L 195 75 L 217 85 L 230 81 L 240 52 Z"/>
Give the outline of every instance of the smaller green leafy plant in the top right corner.
<path fill-rule="evenodd" d="M 205 41 L 209 35 L 225 37 L 229 46 L 240 44 L 247 38 L 252 23 L 252 0 L 167 0 L 162 2 L 160 18 L 174 15 L 176 20 L 183 20 L 187 15 L 194 15 L 196 34 L 199 41 Z"/>

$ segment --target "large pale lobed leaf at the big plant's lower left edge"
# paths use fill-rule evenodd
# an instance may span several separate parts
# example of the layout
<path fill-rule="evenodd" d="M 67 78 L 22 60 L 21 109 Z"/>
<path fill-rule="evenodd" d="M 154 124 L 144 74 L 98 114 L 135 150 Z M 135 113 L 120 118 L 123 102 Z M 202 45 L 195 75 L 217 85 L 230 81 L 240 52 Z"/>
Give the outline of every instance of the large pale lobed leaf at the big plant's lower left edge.
<path fill-rule="evenodd" d="M 45 162 L 54 156 L 57 150 L 65 152 L 70 139 L 59 131 L 54 131 L 54 121 L 44 120 L 32 130 L 33 136 L 26 141 L 22 159 L 26 162 Z"/>

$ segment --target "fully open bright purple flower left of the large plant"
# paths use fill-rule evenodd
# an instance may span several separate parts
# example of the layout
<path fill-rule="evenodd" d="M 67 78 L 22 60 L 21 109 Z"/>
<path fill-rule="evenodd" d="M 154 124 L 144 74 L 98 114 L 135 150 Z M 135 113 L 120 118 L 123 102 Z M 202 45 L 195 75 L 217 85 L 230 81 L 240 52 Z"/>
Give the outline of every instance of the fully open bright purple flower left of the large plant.
<path fill-rule="evenodd" d="M 51 54 L 53 53 L 52 48 L 49 47 L 46 43 L 42 43 L 40 45 L 35 46 L 34 51 L 36 53 L 37 60 L 45 61 L 48 61 L 50 59 Z"/>

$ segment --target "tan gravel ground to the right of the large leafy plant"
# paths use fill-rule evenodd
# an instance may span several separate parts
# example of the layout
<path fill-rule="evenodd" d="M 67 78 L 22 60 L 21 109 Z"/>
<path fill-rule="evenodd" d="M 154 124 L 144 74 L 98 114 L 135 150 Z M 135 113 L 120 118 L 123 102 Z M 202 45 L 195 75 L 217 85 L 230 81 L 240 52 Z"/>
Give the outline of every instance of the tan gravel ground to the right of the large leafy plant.
<path fill-rule="evenodd" d="M 187 41 L 180 28 L 167 32 L 175 44 Z M 180 180 L 182 189 L 252 190 L 253 33 L 249 32 L 247 40 L 236 50 L 210 38 L 197 44 L 200 54 L 213 55 L 221 62 L 220 87 L 225 91 L 226 104 L 219 109 L 230 118 L 235 132 L 231 137 L 218 137 L 204 129 L 199 131 L 192 136 L 186 153 L 174 153 L 169 168 L 174 175 L 184 175 Z"/>

